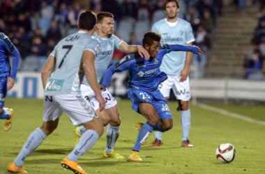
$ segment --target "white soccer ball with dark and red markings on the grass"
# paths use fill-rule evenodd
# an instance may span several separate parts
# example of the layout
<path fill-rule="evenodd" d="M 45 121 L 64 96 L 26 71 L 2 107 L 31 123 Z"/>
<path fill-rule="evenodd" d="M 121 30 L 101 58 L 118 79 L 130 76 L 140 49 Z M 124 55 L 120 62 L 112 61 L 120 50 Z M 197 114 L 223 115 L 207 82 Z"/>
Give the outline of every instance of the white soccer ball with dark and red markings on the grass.
<path fill-rule="evenodd" d="M 236 149 L 232 144 L 223 143 L 218 146 L 215 151 L 216 158 L 221 163 L 229 163 L 234 160 L 236 156 Z"/>

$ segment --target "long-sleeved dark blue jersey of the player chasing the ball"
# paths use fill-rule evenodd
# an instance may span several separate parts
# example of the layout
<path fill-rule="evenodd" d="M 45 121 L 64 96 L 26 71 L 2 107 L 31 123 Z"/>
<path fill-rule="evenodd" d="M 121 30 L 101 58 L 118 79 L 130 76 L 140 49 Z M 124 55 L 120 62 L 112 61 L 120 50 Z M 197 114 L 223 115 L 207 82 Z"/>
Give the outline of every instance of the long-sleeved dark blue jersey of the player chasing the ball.
<path fill-rule="evenodd" d="M 107 69 L 101 84 L 107 87 L 114 72 L 128 70 L 128 89 L 156 90 L 158 85 L 167 79 L 165 72 L 161 72 L 159 69 L 162 58 L 165 54 L 172 51 L 190 51 L 196 54 L 198 49 L 195 46 L 188 45 L 160 45 L 156 56 L 150 58 L 149 61 L 141 58 L 138 53 L 129 54 Z"/>

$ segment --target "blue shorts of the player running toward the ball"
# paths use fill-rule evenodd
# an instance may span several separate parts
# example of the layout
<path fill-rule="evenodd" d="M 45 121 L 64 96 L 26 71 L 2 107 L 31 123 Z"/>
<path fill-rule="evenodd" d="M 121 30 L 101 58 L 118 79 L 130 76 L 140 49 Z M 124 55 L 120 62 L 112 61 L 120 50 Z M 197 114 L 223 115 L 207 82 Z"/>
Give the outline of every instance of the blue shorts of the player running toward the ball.
<path fill-rule="evenodd" d="M 150 103 L 158 112 L 160 119 L 172 119 L 167 101 L 160 93 L 160 90 L 149 92 L 146 90 L 128 89 L 128 97 L 132 102 L 132 109 L 137 111 L 137 113 L 139 113 L 138 105 L 140 103 Z"/>

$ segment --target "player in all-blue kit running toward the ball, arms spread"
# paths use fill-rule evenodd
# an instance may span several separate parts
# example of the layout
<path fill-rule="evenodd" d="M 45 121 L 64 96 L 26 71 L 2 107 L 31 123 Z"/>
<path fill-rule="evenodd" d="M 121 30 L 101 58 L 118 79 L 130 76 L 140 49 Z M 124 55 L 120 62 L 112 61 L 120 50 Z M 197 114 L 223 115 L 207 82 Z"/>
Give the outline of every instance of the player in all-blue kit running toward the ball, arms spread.
<path fill-rule="evenodd" d="M 145 143 L 153 130 L 165 132 L 173 126 L 167 101 L 158 90 L 158 85 L 167 79 L 167 74 L 159 69 L 163 57 L 172 51 L 202 53 L 201 49 L 195 46 L 160 46 L 160 35 L 153 31 L 144 34 L 142 43 L 143 47 L 149 52 L 150 59 L 147 61 L 137 53 L 125 56 L 107 69 L 100 85 L 100 88 L 104 90 L 114 72 L 129 71 L 128 97 L 132 102 L 132 109 L 137 113 L 141 113 L 147 120 L 140 127 L 135 146 L 130 153 L 129 160 L 133 161 L 142 161 L 139 157 L 139 148 Z"/>

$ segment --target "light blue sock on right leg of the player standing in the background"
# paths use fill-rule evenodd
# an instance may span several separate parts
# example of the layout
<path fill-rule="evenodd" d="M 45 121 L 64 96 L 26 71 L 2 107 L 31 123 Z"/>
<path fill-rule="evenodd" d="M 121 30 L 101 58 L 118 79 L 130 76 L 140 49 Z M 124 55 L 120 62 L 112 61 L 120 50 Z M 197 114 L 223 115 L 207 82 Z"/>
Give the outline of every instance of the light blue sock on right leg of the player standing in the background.
<path fill-rule="evenodd" d="M 181 111 L 182 141 L 188 139 L 190 133 L 190 109 Z"/>

